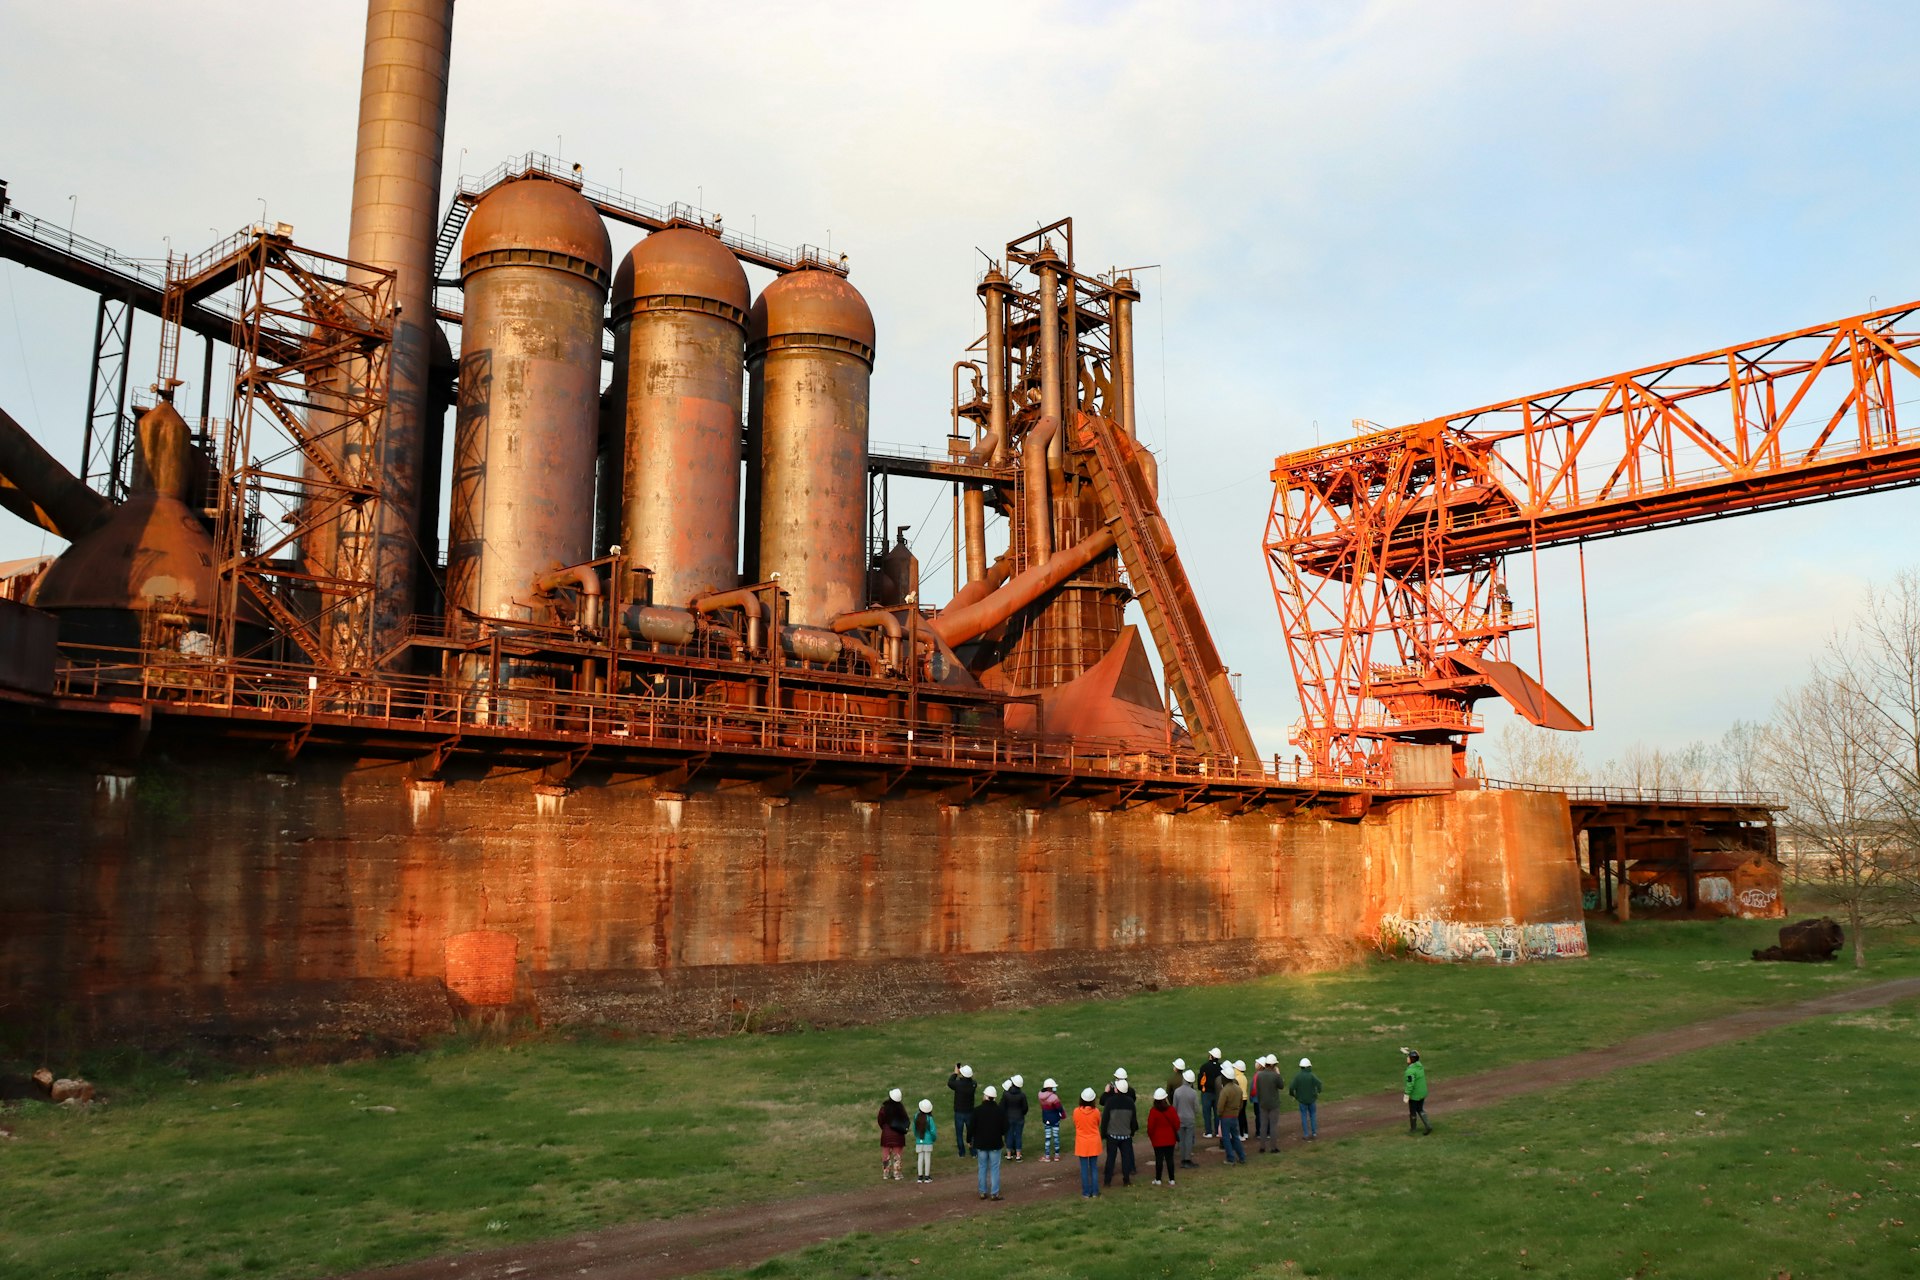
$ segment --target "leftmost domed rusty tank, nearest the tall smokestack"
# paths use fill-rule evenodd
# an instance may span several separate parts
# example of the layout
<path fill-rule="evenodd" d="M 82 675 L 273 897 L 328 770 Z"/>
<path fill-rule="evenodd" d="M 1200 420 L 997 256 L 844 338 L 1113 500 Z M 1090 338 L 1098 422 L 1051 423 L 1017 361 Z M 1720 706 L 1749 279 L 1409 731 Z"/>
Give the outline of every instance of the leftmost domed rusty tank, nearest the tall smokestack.
<path fill-rule="evenodd" d="M 449 614 L 528 618 L 538 574 L 593 558 L 611 259 L 599 215 L 564 182 L 505 182 L 467 221 Z"/>

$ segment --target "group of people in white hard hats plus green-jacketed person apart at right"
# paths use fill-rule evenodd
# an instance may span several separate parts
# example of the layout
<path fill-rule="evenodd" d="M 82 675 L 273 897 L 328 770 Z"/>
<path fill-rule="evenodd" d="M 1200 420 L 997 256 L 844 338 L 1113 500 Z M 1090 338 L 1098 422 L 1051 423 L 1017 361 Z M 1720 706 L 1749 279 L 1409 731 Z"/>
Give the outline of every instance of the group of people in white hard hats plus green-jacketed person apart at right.
<path fill-rule="evenodd" d="M 1427 1067 L 1415 1050 L 1402 1048 L 1405 1055 L 1405 1075 L 1402 1077 L 1402 1102 L 1407 1103 L 1407 1132 L 1432 1132 L 1427 1123 Z M 973 1067 L 954 1063 L 947 1077 L 952 1092 L 952 1130 L 958 1155 L 972 1155 L 977 1167 L 977 1188 L 981 1199 L 1000 1199 L 1000 1167 L 1006 1161 L 1025 1159 L 1025 1130 L 1033 1103 L 1041 1109 L 1041 1161 L 1058 1161 L 1064 1144 L 1062 1128 L 1068 1125 L 1068 1103 L 1062 1098 L 1060 1082 L 1046 1079 L 1041 1082 L 1037 1098 L 1027 1098 L 1025 1079 L 1006 1077 L 1000 1084 L 985 1084 L 973 1079 Z M 1288 1080 L 1281 1071 L 1279 1054 L 1261 1054 L 1254 1059 L 1252 1071 L 1244 1059 L 1229 1059 L 1219 1048 L 1208 1052 L 1198 1069 L 1188 1069 L 1187 1059 L 1175 1057 L 1173 1071 L 1164 1086 L 1154 1088 L 1152 1102 L 1144 1107 L 1146 1140 L 1154 1148 L 1154 1186 L 1177 1186 L 1181 1169 L 1196 1169 L 1196 1138 L 1217 1138 L 1219 1150 L 1229 1165 L 1246 1163 L 1246 1136 L 1252 1134 L 1260 1151 L 1279 1151 L 1279 1115 L 1283 1098 L 1292 1100 L 1300 1113 L 1300 1136 L 1306 1142 L 1319 1140 L 1319 1098 L 1321 1079 L 1313 1075 L 1313 1061 L 1300 1059 L 1300 1067 Z M 1133 1184 L 1135 1159 L 1133 1142 L 1142 1125 L 1142 1105 L 1135 1092 L 1127 1069 L 1114 1071 L 1114 1079 L 1096 1092 L 1091 1084 L 1079 1092 L 1079 1105 L 1071 1111 L 1073 1155 L 1079 1161 L 1081 1196 L 1094 1197 L 1102 1188 L 1100 1155 L 1106 1153 L 1104 1186 L 1114 1184 L 1117 1169 L 1121 1186 Z M 1252 1115 L 1252 1126 L 1248 1126 Z M 916 1163 L 916 1182 L 933 1180 L 933 1148 L 939 1142 L 939 1126 L 933 1121 L 933 1100 L 922 1098 L 916 1111 L 906 1109 L 900 1090 L 889 1090 L 879 1105 L 879 1148 L 881 1178 L 904 1180 L 902 1165 L 908 1140 L 912 1142 Z"/>

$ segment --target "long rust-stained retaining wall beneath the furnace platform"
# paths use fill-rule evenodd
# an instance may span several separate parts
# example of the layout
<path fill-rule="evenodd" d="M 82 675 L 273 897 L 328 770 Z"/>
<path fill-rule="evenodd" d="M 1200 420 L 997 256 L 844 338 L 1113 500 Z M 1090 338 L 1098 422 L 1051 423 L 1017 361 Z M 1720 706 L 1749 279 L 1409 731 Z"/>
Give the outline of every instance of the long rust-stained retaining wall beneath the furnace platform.
<path fill-rule="evenodd" d="M 478 1006 L 712 1031 L 739 1000 L 874 1021 L 1329 967 L 1382 913 L 1551 929 L 1559 896 L 1538 915 L 1496 887 L 1561 871 L 1578 925 L 1565 802 L 1532 793 L 1223 819 L 282 768 L 0 773 L 0 1019 L 328 1038 Z"/>

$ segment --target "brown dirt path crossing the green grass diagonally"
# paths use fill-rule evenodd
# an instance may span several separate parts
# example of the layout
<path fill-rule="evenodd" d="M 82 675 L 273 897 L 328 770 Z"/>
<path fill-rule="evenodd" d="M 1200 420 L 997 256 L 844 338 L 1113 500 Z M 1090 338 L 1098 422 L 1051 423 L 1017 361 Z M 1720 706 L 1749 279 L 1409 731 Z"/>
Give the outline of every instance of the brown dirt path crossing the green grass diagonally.
<path fill-rule="evenodd" d="M 1436 1096 L 1436 1115 L 1473 1107 L 1490 1107 L 1509 1098 L 1534 1094 L 1559 1084 L 1590 1080 L 1622 1067 L 1640 1067 L 1692 1054 L 1728 1040 L 1786 1027 L 1789 1023 L 1870 1009 L 1908 996 L 1920 996 L 1920 979 L 1876 983 L 1801 1004 L 1728 1013 L 1672 1031 L 1622 1040 L 1605 1050 L 1517 1063 L 1475 1077 L 1446 1079 Z M 1386 1128 L 1405 1123 L 1407 1111 L 1394 1092 L 1365 1094 L 1321 1105 L 1321 1132 L 1342 1138 L 1354 1132 Z M 1284 1142 L 1300 1142 L 1298 1123 L 1288 1109 L 1283 1128 Z M 1039 1125 L 1029 1125 L 1037 1134 Z M 1323 1138 L 1325 1140 L 1325 1138 Z M 1037 1146 L 1037 1142 L 1035 1142 Z M 1229 1176 L 1219 1163 L 1215 1144 L 1198 1151 L 1200 1169 L 1183 1171 L 1181 1182 L 1212 1182 Z M 1144 1144 L 1148 1178 L 1154 1155 Z M 912 1167 L 912 1151 L 906 1165 Z M 1006 1199 L 983 1203 L 973 1190 L 973 1165 L 956 1161 L 943 1144 L 935 1157 L 937 1182 L 862 1186 L 826 1196 L 776 1199 L 749 1205 L 739 1213 L 701 1213 L 664 1222 L 636 1222 L 612 1226 L 586 1236 L 536 1240 L 507 1249 L 426 1259 L 401 1267 L 361 1272 L 357 1280 L 561 1280 L 588 1276 L 589 1280 L 659 1280 L 689 1276 L 716 1267 L 751 1267 L 755 1263 L 801 1249 L 820 1240 L 835 1240 L 851 1232 L 897 1232 L 922 1222 L 966 1219 L 975 1213 L 1000 1213 L 1004 1207 L 1056 1199 L 1079 1194 L 1079 1167 L 1073 1157 L 1060 1163 L 1023 1161 L 1006 1165 L 1002 1184 Z M 1133 1192 L 1139 1194 L 1139 1192 Z"/>

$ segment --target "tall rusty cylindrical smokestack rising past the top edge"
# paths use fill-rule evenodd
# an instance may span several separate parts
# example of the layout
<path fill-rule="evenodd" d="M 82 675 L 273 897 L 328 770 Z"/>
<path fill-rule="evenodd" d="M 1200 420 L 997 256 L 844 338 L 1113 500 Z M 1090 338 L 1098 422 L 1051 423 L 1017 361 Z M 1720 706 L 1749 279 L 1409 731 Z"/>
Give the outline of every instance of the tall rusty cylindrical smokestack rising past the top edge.
<path fill-rule="evenodd" d="M 413 612 L 426 570 L 415 543 L 434 328 L 434 240 L 447 129 L 453 0 L 369 0 L 353 154 L 348 257 L 394 273 L 392 388 L 378 434 L 374 522 L 378 591 L 372 652 L 386 652 Z"/>

